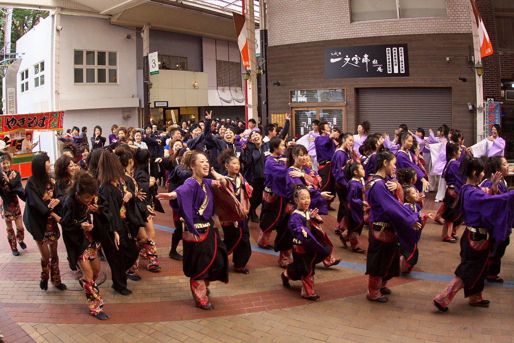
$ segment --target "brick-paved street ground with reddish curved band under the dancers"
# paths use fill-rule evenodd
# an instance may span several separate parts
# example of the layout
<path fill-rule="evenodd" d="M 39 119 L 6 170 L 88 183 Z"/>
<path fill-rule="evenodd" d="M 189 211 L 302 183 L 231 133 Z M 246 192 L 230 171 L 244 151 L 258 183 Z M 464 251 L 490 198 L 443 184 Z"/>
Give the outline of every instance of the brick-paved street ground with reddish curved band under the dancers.
<path fill-rule="evenodd" d="M 433 198 L 433 193 L 429 194 Z M 338 204 L 335 203 L 337 206 Z M 426 208 L 434 212 L 438 204 L 429 201 Z M 115 294 L 108 265 L 102 262 L 106 280 L 100 286 L 104 310 L 111 315 L 99 323 L 90 317 L 85 296 L 80 291 L 60 292 L 39 288 L 39 252 L 30 235 L 27 250 L 11 255 L 0 223 L 0 330 L 4 342 L 25 341 L 360 341 L 360 342 L 475 342 L 513 340 L 514 268 L 512 250 L 503 260 L 502 276 L 506 283 L 487 285 L 484 292 L 490 308 L 474 308 L 458 294 L 447 315 L 437 313 L 432 298 L 452 278 L 458 264 L 458 244 L 440 242 L 441 226 L 429 223 L 419 244 L 419 263 L 411 277 L 395 278 L 393 294 L 387 304 L 365 299 L 367 278 L 365 255 L 353 254 L 341 247 L 333 233 L 335 218 L 325 219 L 323 227 L 336 244 L 335 255 L 343 262 L 332 268 L 319 265 L 316 290 L 320 302 L 300 297 L 300 282 L 292 281 L 286 290 L 281 286 L 282 269 L 273 252 L 255 247 L 259 227 L 250 223 L 254 251 L 248 265 L 249 275 L 231 271 L 230 283 L 214 283 L 212 312 L 195 308 L 188 279 L 181 262 L 167 257 L 173 222 L 169 213 L 156 218 L 156 242 L 162 272 L 142 269 L 142 281 L 129 281 L 134 294 Z M 367 232 L 361 241 L 367 246 Z M 180 247 L 181 248 L 181 247 Z M 78 289 L 68 272 L 62 239 L 59 256 L 63 281 Z M 143 263 L 141 263 L 144 266 Z M 67 273 L 67 274 L 65 274 Z"/>

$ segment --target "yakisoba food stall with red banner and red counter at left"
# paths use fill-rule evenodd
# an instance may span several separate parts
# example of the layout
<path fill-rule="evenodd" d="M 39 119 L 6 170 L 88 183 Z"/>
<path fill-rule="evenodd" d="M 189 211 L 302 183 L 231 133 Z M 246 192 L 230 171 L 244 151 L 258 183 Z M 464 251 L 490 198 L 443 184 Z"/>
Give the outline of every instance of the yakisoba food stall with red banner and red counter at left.
<path fill-rule="evenodd" d="M 0 135 L 10 139 L 10 146 L 6 150 L 13 157 L 12 169 L 19 171 L 22 178 L 32 175 L 32 158 L 42 153 L 41 142 L 35 145 L 34 136 L 39 139 L 42 131 L 62 130 L 63 115 L 64 111 L 0 116 Z M 24 146 L 25 139 L 28 143 Z"/>

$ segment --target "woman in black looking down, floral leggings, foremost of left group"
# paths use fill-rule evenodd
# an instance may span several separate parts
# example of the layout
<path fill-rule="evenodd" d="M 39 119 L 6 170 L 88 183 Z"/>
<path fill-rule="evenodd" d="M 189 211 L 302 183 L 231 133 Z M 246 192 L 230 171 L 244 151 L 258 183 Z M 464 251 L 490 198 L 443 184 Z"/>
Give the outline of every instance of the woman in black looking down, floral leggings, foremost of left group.
<path fill-rule="evenodd" d="M 89 213 L 102 214 L 96 202 L 97 190 L 98 183 L 93 176 L 82 170 L 76 173 L 64 200 L 61 227 L 70 266 L 76 270 L 78 264 L 82 270 L 80 283 L 86 294 L 89 313 L 97 319 L 105 320 L 109 315 L 103 312 L 103 299 L 96 284 L 100 271 L 98 224 L 91 224 Z"/>

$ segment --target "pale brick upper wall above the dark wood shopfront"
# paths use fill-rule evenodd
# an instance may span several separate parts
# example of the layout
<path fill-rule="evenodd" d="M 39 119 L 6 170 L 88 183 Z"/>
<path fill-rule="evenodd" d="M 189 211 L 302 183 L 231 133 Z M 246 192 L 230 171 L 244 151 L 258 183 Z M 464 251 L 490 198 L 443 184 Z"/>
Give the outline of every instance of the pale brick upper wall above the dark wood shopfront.
<path fill-rule="evenodd" d="M 446 0 L 446 17 L 356 23 L 351 22 L 350 0 L 268 0 L 267 4 L 270 46 L 383 35 L 471 32 L 469 0 Z"/>

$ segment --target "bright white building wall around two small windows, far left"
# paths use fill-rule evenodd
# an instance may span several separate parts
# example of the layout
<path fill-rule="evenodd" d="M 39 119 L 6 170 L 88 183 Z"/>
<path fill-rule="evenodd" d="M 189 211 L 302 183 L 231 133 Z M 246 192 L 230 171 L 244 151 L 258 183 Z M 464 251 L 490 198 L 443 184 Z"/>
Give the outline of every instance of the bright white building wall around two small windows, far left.
<path fill-rule="evenodd" d="M 17 112 L 19 114 L 53 111 L 51 106 L 52 27 L 53 16 L 48 16 L 16 42 L 16 53 L 22 59 L 17 77 Z M 34 88 L 34 65 L 41 61 L 45 61 L 45 84 Z M 21 93 L 20 73 L 27 68 L 29 90 Z"/>

